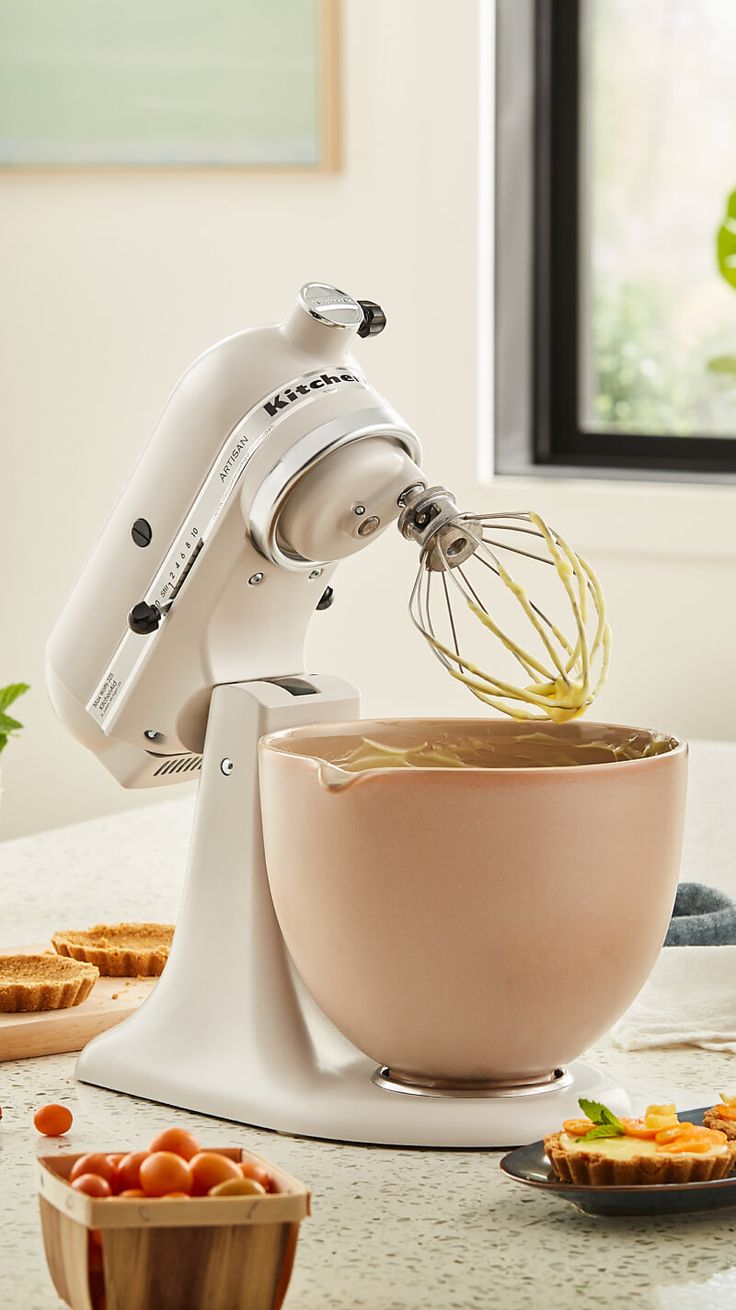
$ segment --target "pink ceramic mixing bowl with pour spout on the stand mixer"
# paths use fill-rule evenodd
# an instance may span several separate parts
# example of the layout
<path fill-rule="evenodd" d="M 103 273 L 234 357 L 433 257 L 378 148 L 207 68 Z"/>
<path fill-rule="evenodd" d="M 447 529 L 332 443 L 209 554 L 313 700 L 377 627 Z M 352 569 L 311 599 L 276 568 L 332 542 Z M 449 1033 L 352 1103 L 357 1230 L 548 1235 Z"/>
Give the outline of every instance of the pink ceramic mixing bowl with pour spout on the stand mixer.
<path fill-rule="evenodd" d="M 547 1077 L 619 1018 L 664 941 L 686 747 L 596 723 L 406 719 L 261 743 L 268 879 L 306 988 L 413 1082 Z M 364 738 L 482 739 L 490 768 L 343 773 Z M 598 748 L 602 741 L 605 748 Z"/>

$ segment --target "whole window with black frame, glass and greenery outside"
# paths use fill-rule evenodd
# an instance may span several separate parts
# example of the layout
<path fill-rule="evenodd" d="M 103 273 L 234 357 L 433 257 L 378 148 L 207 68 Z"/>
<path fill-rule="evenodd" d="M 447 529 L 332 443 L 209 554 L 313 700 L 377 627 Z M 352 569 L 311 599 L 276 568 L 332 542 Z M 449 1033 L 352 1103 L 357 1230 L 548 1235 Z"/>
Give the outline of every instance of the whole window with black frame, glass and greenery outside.
<path fill-rule="evenodd" d="M 502 468 L 736 472 L 736 4 L 498 18 Z"/>

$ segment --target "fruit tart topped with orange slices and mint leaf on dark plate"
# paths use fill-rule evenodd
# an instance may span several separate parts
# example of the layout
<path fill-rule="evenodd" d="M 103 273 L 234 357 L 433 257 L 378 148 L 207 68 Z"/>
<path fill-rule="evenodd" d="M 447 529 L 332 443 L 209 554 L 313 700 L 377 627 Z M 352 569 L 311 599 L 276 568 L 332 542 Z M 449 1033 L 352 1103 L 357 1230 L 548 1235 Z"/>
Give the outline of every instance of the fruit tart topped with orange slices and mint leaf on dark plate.
<path fill-rule="evenodd" d="M 618 1119 L 596 1100 L 579 1106 L 581 1119 L 567 1119 L 561 1132 L 545 1137 L 550 1165 L 566 1183 L 707 1183 L 736 1163 L 736 1133 L 729 1140 L 719 1128 L 681 1123 L 674 1106 L 650 1106 L 643 1119 Z"/>

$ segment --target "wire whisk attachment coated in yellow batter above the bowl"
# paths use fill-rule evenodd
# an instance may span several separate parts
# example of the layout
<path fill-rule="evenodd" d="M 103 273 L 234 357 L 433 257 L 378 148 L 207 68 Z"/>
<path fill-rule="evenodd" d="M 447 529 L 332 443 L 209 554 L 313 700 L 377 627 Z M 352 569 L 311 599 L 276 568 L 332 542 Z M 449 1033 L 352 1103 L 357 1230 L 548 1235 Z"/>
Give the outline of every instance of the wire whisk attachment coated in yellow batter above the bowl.
<path fill-rule="evenodd" d="M 584 714 L 606 677 L 610 629 L 598 578 L 564 537 L 533 512 L 461 514 L 444 487 L 405 493 L 398 525 L 420 548 L 409 613 L 451 676 L 515 719 Z M 488 634 L 498 673 L 479 647 Z"/>

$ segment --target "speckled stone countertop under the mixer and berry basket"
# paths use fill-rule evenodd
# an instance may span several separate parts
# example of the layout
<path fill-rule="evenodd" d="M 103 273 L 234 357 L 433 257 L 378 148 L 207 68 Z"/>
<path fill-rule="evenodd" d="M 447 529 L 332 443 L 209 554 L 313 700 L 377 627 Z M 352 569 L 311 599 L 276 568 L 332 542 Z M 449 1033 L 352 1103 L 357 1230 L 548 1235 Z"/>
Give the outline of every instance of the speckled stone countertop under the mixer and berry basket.
<path fill-rule="evenodd" d="M 98 920 L 169 920 L 191 811 L 187 796 L 1 845 L 0 942 L 34 942 Z M 736 744 L 693 748 L 682 876 L 736 895 Z M 604 1041 L 589 1057 L 644 1099 L 677 1094 L 682 1106 L 705 1104 L 736 1083 L 733 1056 L 691 1047 L 626 1055 Z M 73 1056 L 0 1064 L 3 1310 L 62 1305 L 41 1243 L 31 1171 L 39 1138 L 30 1121 L 41 1102 L 56 1099 L 75 1111 L 75 1150 L 144 1144 L 179 1123 L 210 1145 L 249 1145 L 309 1183 L 313 1217 L 303 1226 L 291 1310 L 736 1306 L 736 1210 L 587 1218 L 504 1178 L 496 1151 L 280 1137 L 77 1086 L 73 1064 Z"/>

